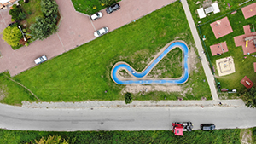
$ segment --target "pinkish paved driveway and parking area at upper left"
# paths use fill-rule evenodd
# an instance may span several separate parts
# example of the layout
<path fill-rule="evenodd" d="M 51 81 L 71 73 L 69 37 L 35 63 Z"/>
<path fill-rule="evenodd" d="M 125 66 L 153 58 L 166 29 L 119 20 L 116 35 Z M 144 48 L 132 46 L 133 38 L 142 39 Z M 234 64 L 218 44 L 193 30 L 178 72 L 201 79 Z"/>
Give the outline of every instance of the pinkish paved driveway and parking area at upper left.
<path fill-rule="evenodd" d="M 9 71 L 11 76 L 15 76 L 32 66 L 36 66 L 33 60 L 41 55 L 47 55 L 51 59 L 90 42 L 95 39 L 93 32 L 96 29 L 108 26 L 109 31 L 113 31 L 173 2 L 175 0 L 140 0 L 139 2 L 137 0 L 123 0 L 119 3 L 121 9 L 113 12 L 113 14 L 106 14 L 105 10 L 102 10 L 104 16 L 92 22 L 88 15 L 80 14 L 74 10 L 71 0 L 56 0 L 62 17 L 59 32 L 44 41 L 38 40 L 28 47 L 24 46 L 17 50 L 13 50 L 1 38 L 0 72 Z M 10 16 L 8 10 L 0 10 L 0 14 L 4 17 L 0 21 L 0 31 L 3 31 L 10 23 Z"/>

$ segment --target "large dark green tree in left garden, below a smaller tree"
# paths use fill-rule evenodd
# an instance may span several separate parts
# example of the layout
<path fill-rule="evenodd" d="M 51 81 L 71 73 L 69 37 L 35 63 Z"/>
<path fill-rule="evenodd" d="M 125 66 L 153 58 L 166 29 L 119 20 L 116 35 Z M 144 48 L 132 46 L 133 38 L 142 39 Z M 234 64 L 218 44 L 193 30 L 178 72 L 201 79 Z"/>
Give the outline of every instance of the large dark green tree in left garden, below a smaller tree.
<path fill-rule="evenodd" d="M 36 23 L 30 26 L 33 39 L 44 40 L 51 34 L 57 32 L 56 20 L 54 17 L 37 17 Z"/>

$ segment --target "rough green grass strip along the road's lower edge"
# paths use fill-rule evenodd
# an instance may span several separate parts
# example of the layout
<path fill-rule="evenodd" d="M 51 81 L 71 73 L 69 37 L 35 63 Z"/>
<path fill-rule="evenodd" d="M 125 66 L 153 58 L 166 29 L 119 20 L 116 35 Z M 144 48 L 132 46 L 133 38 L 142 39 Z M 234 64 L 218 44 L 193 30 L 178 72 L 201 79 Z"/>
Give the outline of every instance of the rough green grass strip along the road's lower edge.
<path fill-rule="evenodd" d="M 240 131 L 235 130 L 195 130 L 183 132 L 184 136 L 176 136 L 170 131 L 75 131 L 75 132 L 45 132 L 0 130 L 0 143 L 32 143 L 49 135 L 60 135 L 71 144 L 80 143 L 240 143 Z"/>

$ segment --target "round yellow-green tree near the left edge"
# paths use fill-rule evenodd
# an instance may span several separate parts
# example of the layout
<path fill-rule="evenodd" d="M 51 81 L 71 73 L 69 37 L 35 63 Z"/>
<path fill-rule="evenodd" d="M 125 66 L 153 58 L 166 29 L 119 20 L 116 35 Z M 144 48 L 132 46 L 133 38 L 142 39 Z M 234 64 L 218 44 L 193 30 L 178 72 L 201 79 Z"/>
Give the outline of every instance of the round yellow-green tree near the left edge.
<path fill-rule="evenodd" d="M 16 26 L 8 26 L 3 30 L 3 40 L 10 46 L 15 47 L 19 45 L 21 37 L 22 33 Z"/>

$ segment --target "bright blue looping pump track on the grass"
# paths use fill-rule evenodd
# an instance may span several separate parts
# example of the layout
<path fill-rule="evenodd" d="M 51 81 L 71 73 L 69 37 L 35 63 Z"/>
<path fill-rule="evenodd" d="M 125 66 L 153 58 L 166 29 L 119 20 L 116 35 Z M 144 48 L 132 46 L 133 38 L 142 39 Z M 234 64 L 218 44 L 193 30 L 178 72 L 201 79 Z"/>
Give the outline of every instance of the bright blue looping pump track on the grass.
<path fill-rule="evenodd" d="M 162 60 L 166 54 L 168 54 L 173 48 L 180 47 L 183 49 L 183 77 L 178 79 L 132 79 L 132 80 L 120 80 L 116 75 L 117 72 L 119 72 L 119 69 L 126 69 L 128 72 L 131 72 L 131 74 L 136 78 L 143 78 L 150 72 L 154 66 Z M 163 53 L 161 53 L 143 72 L 135 72 L 131 66 L 128 64 L 117 64 L 113 66 L 113 71 L 111 73 L 111 76 L 113 78 L 113 81 L 116 84 L 183 84 L 185 83 L 189 78 L 189 66 L 188 66 L 188 58 L 189 58 L 189 48 L 187 45 L 183 42 L 174 42 L 172 43 Z"/>

